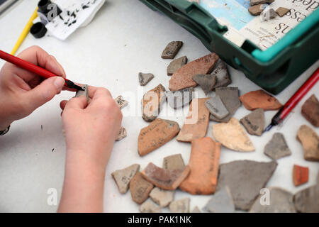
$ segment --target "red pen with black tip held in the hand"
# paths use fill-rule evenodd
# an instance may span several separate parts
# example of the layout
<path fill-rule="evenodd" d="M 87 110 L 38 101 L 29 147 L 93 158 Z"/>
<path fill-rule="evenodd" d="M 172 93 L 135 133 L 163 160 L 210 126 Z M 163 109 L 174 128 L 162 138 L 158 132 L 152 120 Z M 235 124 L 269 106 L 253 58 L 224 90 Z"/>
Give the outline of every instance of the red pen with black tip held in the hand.
<path fill-rule="evenodd" d="M 54 74 L 50 71 L 47 71 L 47 70 L 43 69 L 42 67 L 39 67 L 38 65 L 33 65 L 30 62 L 22 60 L 21 58 L 18 58 L 16 56 L 10 55 L 9 53 L 4 52 L 2 50 L 0 50 L 0 58 L 3 60 L 6 60 L 7 62 L 12 63 L 13 65 L 16 65 L 18 67 L 23 68 L 23 70 L 28 70 L 29 72 L 34 72 L 35 74 L 39 75 L 40 77 L 44 77 L 45 79 L 50 78 L 50 77 L 57 77 L 56 74 Z M 65 78 L 63 78 L 63 79 L 65 79 Z M 74 84 L 74 82 L 72 82 L 69 79 L 65 79 L 65 87 L 84 91 L 82 89 L 82 87 L 77 86 L 77 84 Z"/>

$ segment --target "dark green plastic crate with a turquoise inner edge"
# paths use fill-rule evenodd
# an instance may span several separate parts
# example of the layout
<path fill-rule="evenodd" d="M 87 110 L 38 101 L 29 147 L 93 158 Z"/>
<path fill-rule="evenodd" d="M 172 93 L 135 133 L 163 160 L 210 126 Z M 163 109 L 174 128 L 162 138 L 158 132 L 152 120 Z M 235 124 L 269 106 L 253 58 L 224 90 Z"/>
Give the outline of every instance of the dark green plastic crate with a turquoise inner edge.
<path fill-rule="evenodd" d="M 319 9 L 265 51 L 246 40 L 242 47 L 223 37 L 228 28 L 211 13 L 186 0 L 140 0 L 154 11 L 169 16 L 195 35 L 206 48 L 255 84 L 278 94 L 319 58 Z"/>

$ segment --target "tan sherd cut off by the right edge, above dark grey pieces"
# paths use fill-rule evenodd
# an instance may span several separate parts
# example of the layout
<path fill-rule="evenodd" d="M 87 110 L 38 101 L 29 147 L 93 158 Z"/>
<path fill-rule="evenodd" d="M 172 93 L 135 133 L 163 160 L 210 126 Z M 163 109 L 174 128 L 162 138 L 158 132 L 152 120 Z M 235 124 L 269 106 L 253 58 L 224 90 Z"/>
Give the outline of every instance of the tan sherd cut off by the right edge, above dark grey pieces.
<path fill-rule="evenodd" d="M 299 128 L 297 139 L 303 145 L 303 157 L 307 161 L 319 162 L 319 137 L 312 128 L 303 125 Z"/>

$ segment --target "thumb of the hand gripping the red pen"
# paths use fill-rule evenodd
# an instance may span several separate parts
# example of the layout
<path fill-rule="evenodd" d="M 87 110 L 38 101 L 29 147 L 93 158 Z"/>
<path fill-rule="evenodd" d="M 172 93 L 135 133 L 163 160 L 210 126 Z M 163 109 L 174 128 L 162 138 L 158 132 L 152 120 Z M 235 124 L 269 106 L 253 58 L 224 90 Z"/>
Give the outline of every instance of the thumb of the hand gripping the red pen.
<path fill-rule="evenodd" d="M 59 94 L 65 85 L 62 77 L 50 77 L 43 80 L 35 88 L 27 92 L 31 109 L 37 109 L 47 101 L 50 101 L 56 94 Z"/>

